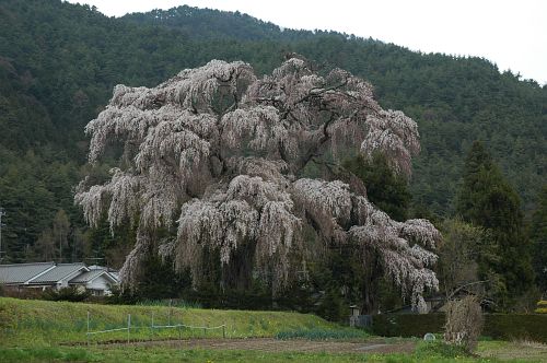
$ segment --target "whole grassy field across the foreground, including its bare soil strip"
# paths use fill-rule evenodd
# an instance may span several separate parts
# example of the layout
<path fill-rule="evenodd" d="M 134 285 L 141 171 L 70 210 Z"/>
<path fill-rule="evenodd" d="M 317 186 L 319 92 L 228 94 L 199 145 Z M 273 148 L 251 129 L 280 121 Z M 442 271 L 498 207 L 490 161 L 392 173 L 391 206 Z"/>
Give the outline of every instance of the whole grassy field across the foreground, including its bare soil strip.
<path fill-rule="evenodd" d="M 88 312 L 92 331 L 125 327 L 127 315 L 130 314 L 131 342 L 126 342 L 127 331 L 118 331 L 98 335 L 86 346 Z M 225 324 L 228 339 L 221 339 L 221 329 L 207 332 L 202 329 L 152 330 L 152 314 L 154 325 L 183 323 L 211 327 Z M 194 344 L 189 340 L 170 340 L 181 337 L 194 338 Z M 307 339 L 327 342 L 305 343 Z M 120 343 L 104 344 L 116 341 Z M 210 347 L 207 341 L 212 342 Z M 255 341 L 258 342 L 256 346 Z M 234 343 L 229 347 L 226 342 Z M 269 348 L 257 347 L 260 343 Z M 310 349 L 312 346 L 315 348 Z M 333 350 L 334 346 L 338 348 Z M 345 351 L 344 347 L 349 346 L 353 347 L 352 350 Z M 354 350 L 354 347 L 361 346 L 362 351 Z M 366 347 L 382 347 L 384 352 L 379 353 L 382 349 L 368 351 Z M 477 354 L 468 356 L 443 344 L 426 343 L 418 339 L 371 337 L 362 330 L 340 327 L 314 315 L 0 297 L 0 362 L 62 361 L 547 362 L 547 347 L 533 342 L 481 341 Z"/>

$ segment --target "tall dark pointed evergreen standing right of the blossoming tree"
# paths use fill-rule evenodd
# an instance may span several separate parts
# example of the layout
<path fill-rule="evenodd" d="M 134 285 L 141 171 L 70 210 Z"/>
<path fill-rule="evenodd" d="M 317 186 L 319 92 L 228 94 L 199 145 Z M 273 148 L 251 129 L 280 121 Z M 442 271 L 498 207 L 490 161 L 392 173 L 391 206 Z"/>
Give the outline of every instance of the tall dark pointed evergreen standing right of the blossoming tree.
<path fill-rule="evenodd" d="M 490 233 L 494 254 L 482 255 L 479 271 L 482 278 L 489 271 L 501 277 L 498 303 L 508 307 L 533 283 L 529 242 L 519 196 L 479 141 L 466 157 L 456 210 L 464 221 Z"/>

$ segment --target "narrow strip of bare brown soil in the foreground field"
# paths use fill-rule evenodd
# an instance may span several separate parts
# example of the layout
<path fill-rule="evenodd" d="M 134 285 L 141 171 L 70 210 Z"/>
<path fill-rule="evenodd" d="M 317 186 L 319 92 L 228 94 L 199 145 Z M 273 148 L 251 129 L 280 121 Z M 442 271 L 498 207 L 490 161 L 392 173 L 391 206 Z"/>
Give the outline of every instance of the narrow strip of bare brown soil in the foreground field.
<path fill-rule="evenodd" d="M 127 346 L 128 343 L 109 343 L 108 347 Z M 259 350 L 264 352 L 336 352 L 336 353 L 411 353 L 415 343 L 403 341 L 385 343 L 383 340 L 365 342 L 347 341 L 310 341 L 278 340 L 271 338 L 251 339 L 189 339 L 165 341 L 140 341 L 129 344 L 140 347 L 170 347 L 182 349 L 223 349 L 223 350 Z"/>

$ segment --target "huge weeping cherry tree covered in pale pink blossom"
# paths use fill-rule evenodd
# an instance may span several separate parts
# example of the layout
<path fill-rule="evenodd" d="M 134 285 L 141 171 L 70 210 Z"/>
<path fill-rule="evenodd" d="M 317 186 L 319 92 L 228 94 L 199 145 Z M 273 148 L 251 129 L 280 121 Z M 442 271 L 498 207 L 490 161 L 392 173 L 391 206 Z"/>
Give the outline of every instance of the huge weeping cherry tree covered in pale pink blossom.
<path fill-rule="evenodd" d="M 319 75 L 291 58 L 258 79 L 247 63 L 212 60 L 153 89 L 117 85 L 86 132 L 91 163 L 108 145 L 121 150 L 110 179 L 85 178 L 75 201 L 91 225 L 104 210 L 113 229 L 136 225 L 120 271 L 128 285 L 153 251 L 172 257 L 177 270 L 189 268 L 199 285 L 205 250 L 217 250 L 226 268 L 251 246 L 253 271 L 279 291 L 294 256 L 353 246 L 363 269 L 381 269 L 414 306 L 423 307 L 426 288 L 438 289 L 429 269 L 437 255 L 426 248 L 439 232 L 426 220 L 392 220 L 339 166 L 357 152 L 381 151 L 409 174 L 417 125 L 382 109 L 372 86 L 347 71 Z M 176 236 L 158 241 L 159 229 L 174 227 Z M 364 264 L 370 255 L 379 264 Z"/>

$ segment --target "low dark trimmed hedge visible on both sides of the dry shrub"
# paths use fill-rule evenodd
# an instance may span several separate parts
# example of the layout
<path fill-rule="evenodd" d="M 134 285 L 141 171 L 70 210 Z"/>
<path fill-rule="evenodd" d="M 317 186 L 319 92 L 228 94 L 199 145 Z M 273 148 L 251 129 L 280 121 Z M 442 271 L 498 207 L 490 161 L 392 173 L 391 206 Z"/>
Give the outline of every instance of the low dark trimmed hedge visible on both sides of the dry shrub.
<path fill-rule="evenodd" d="M 374 315 L 372 331 L 384 337 L 423 337 L 426 332 L 442 332 L 444 314 Z M 547 342 L 545 314 L 485 314 L 482 336 L 493 339 L 526 339 Z"/>

